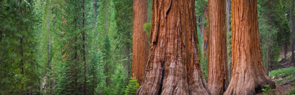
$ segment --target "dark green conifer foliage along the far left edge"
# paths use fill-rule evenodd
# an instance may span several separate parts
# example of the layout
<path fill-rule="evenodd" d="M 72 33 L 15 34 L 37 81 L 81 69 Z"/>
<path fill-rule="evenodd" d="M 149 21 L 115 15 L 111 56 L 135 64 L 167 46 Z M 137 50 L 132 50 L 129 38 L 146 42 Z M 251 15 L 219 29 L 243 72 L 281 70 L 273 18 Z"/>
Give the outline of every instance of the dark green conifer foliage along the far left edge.
<path fill-rule="evenodd" d="M 0 3 L 0 94 L 37 94 L 41 73 L 35 2 Z"/>

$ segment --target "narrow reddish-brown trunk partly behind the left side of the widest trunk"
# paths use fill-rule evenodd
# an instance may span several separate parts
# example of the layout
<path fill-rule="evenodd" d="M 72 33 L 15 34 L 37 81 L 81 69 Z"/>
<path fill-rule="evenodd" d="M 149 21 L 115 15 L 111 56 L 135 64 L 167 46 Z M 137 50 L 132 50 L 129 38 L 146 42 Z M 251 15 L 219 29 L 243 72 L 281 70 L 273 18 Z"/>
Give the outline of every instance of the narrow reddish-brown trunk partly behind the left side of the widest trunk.
<path fill-rule="evenodd" d="M 132 74 L 141 85 L 148 59 L 147 33 L 143 24 L 147 22 L 147 0 L 133 0 Z"/>

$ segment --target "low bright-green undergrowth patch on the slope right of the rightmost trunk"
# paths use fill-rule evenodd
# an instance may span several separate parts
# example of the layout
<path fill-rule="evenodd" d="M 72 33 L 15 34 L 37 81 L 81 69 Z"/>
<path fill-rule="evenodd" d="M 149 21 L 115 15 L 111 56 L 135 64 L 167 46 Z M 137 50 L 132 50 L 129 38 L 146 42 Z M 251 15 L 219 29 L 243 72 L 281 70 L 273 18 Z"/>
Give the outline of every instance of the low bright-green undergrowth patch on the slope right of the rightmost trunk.
<path fill-rule="evenodd" d="M 292 75 L 295 73 L 295 68 L 294 67 L 289 67 L 289 68 L 280 68 L 275 71 L 270 71 L 268 74 L 270 77 L 272 76 L 284 76 L 284 75 Z"/>

